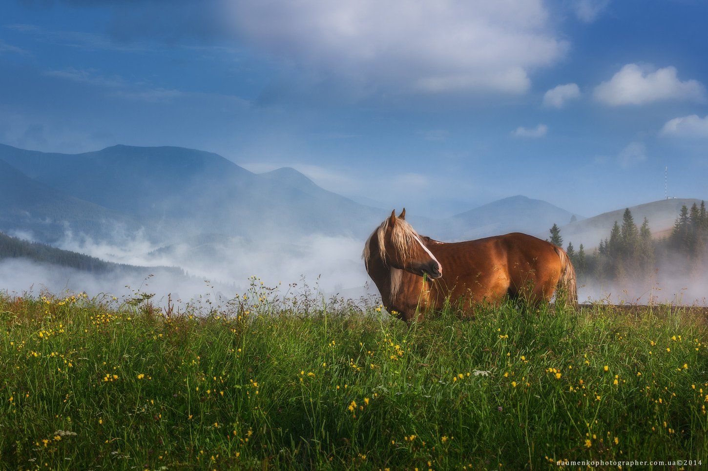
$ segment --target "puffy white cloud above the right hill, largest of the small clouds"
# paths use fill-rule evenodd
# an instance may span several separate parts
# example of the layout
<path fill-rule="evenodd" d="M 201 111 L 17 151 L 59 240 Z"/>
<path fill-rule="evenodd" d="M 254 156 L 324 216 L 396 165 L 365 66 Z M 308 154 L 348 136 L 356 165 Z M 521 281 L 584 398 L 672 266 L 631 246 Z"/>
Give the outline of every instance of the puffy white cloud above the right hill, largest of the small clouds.
<path fill-rule="evenodd" d="M 610 81 L 595 87 L 595 100 L 612 106 L 704 99 L 702 84 L 695 80 L 680 81 L 673 66 L 651 71 L 646 66 L 627 64 Z"/>

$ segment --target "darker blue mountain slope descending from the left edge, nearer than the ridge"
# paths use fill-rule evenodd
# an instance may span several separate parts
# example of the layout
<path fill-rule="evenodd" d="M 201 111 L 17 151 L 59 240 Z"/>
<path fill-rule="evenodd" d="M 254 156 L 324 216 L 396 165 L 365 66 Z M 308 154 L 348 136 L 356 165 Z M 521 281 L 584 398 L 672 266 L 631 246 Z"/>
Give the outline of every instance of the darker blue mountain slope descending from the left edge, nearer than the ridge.
<path fill-rule="evenodd" d="M 33 180 L 0 160 L 0 230 L 32 233 L 55 242 L 64 236 L 67 224 L 93 238 L 105 238 L 120 226 L 137 231 L 140 224 L 127 214 L 69 196 Z"/>

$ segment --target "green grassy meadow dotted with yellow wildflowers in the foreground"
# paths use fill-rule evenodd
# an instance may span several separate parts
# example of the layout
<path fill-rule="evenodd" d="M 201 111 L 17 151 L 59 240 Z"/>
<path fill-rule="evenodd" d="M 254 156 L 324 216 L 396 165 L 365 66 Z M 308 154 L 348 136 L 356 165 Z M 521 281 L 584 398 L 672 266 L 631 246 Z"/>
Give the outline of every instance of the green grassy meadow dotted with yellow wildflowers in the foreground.
<path fill-rule="evenodd" d="M 0 295 L 2 467 L 708 462 L 701 310 L 500 306 L 409 326 L 253 286 L 201 315 Z"/>

